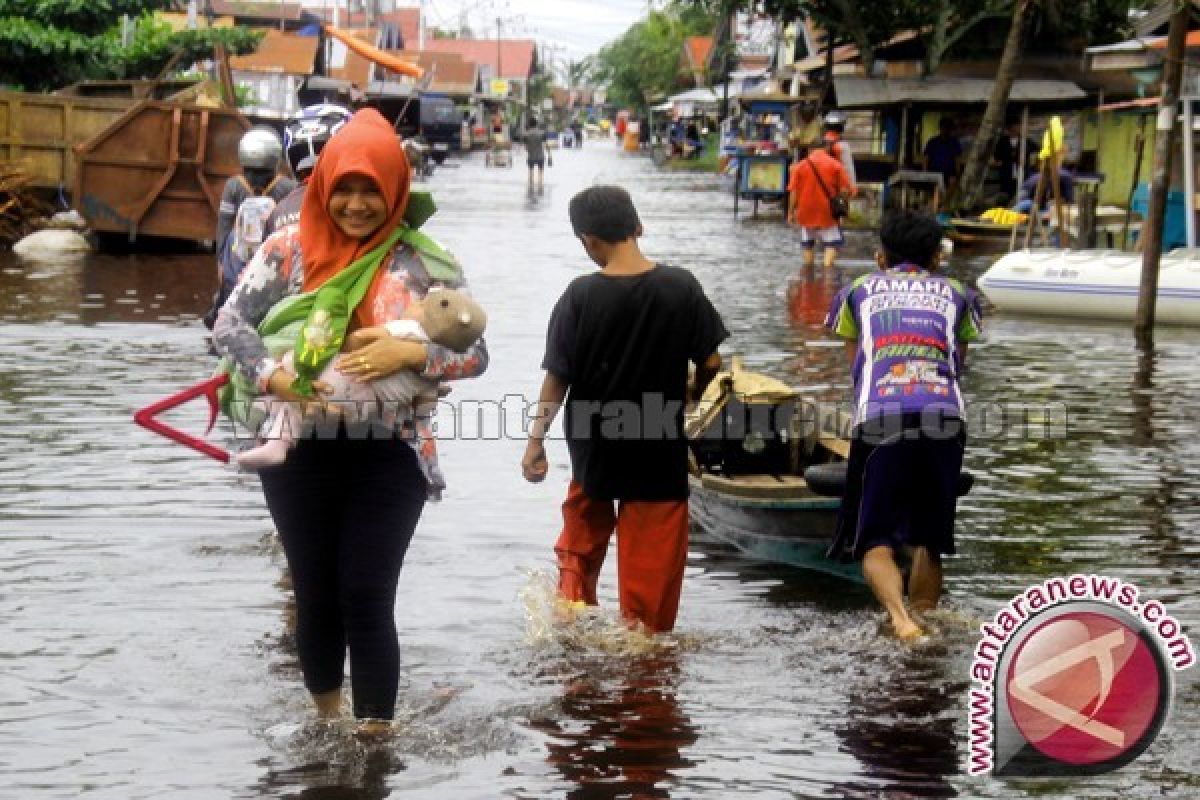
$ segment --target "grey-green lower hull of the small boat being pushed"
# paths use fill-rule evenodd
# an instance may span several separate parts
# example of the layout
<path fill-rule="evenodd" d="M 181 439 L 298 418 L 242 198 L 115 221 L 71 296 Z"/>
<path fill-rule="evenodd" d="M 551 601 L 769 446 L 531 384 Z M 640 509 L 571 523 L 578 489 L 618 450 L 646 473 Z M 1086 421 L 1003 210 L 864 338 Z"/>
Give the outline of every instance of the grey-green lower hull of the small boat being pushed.
<path fill-rule="evenodd" d="M 690 479 L 691 519 L 709 536 L 762 561 L 816 570 L 862 582 L 858 564 L 826 557 L 838 524 L 840 500 L 818 497 L 744 498 Z"/>

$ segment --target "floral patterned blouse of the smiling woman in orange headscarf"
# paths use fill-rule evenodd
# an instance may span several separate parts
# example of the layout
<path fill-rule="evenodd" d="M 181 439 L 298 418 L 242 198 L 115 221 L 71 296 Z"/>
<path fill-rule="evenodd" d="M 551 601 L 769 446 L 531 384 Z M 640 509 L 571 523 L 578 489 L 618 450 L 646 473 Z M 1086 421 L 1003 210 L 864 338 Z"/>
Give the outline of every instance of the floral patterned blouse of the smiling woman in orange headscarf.
<path fill-rule="evenodd" d="M 379 265 L 383 275 L 376 279 L 362 302 L 372 325 L 400 319 L 412 302 L 419 302 L 436 285 L 420 258 L 407 243 L 398 243 Z M 266 391 L 266 381 L 278 367 L 258 335 L 258 325 L 266 312 L 283 297 L 302 291 L 304 258 L 296 225 L 272 234 L 246 265 L 229 300 L 221 308 L 212 327 L 212 343 L 221 355 L 230 357 L 241 373 Z M 442 285 L 440 282 L 437 283 Z M 455 287 L 461 289 L 462 287 Z M 426 343 L 428 359 L 421 375 L 434 380 L 474 378 L 487 368 L 487 347 L 484 339 L 466 353 Z M 437 500 L 445 488 L 438 467 L 437 440 L 432 416 L 415 420 L 415 437 L 406 437 L 416 450 L 421 471 L 430 487 L 430 498 Z"/>

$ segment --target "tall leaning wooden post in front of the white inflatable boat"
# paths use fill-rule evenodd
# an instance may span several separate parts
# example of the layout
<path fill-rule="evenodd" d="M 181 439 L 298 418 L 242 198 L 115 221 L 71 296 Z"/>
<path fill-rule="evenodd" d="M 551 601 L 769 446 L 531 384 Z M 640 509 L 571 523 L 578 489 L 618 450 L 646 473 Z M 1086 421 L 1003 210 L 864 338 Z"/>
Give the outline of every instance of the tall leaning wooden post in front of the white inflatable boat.
<path fill-rule="evenodd" d="M 1175 155 L 1180 110 L 1180 85 L 1183 83 L 1183 46 L 1188 32 L 1190 2 L 1176 2 L 1166 32 L 1166 64 L 1163 68 L 1163 94 L 1154 126 L 1154 180 L 1150 187 L 1150 209 L 1142 224 L 1145 249 L 1141 260 L 1141 285 L 1138 289 L 1138 314 L 1134 336 L 1142 344 L 1154 338 L 1154 305 L 1158 300 L 1158 263 L 1163 257 L 1163 222 L 1166 218 L 1166 194 L 1171 186 L 1171 157 Z M 1188 143 L 1190 146 L 1190 142 Z"/>

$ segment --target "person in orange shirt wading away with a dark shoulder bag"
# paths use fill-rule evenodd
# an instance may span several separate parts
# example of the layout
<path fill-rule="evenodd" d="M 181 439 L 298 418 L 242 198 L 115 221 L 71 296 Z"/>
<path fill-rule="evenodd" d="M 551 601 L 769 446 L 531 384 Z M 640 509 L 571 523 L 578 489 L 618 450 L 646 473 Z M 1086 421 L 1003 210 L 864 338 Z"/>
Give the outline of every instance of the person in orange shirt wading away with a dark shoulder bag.
<path fill-rule="evenodd" d="M 846 168 L 829 149 L 815 143 L 808 156 L 792 164 L 787 179 L 787 219 L 800 229 L 804 266 L 816 260 L 816 245 L 824 248 L 824 265 L 832 267 L 838 248 L 845 243 L 841 217 L 846 216 L 846 198 L 857 190 Z"/>

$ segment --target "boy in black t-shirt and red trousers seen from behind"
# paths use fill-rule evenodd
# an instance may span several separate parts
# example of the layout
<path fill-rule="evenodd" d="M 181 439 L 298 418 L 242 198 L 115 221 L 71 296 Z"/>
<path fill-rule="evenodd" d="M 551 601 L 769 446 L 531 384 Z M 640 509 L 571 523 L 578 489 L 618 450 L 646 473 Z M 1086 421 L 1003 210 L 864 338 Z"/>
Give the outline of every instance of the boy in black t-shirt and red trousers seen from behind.
<path fill-rule="evenodd" d="M 625 190 L 584 190 L 570 217 L 601 269 L 575 278 L 551 314 L 546 379 L 521 469 L 530 482 L 546 477 L 544 439 L 565 398 L 571 483 L 554 545 L 558 591 L 596 604 L 616 528 L 622 614 L 650 632 L 670 631 L 688 555 L 684 403 L 720 369 L 716 347 L 728 332 L 691 272 L 642 254 L 642 224 Z"/>

